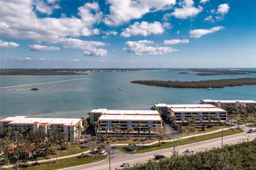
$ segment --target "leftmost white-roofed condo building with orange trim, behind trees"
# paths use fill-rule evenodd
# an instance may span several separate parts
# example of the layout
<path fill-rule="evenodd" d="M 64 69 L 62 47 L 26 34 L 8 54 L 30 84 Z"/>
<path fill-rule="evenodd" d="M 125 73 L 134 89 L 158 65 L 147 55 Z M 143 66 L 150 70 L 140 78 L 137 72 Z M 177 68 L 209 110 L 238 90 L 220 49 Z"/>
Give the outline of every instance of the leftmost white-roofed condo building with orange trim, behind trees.
<path fill-rule="evenodd" d="M 39 128 L 47 132 L 47 129 L 55 128 L 59 132 L 65 132 L 68 141 L 75 141 L 81 135 L 76 130 L 77 125 L 82 126 L 82 119 L 7 117 L 0 120 L 0 135 L 5 135 L 4 128 L 7 126 L 11 128 L 11 132 L 21 132 L 22 129 L 36 132 Z"/>

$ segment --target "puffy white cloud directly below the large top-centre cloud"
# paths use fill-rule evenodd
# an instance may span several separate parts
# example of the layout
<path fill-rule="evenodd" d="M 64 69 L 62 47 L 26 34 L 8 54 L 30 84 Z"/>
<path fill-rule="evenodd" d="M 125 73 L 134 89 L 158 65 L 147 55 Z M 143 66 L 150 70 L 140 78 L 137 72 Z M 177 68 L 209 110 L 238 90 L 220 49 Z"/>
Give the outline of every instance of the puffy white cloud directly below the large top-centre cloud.
<path fill-rule="evenodd" d="M 146 21 L 134 22 L 133 25 L 129 26 L 129 28 L 126 28 L 123 30 L 123 33 L 121 33 L 122 37 L 131 37 L 135 35 L 142 35 L 142 36 L 148 36 L 150 34 L 162 34 L 164 32 L 164 27 L 161 25 L 160 22 L 153 22 L 148 23 Z"/>

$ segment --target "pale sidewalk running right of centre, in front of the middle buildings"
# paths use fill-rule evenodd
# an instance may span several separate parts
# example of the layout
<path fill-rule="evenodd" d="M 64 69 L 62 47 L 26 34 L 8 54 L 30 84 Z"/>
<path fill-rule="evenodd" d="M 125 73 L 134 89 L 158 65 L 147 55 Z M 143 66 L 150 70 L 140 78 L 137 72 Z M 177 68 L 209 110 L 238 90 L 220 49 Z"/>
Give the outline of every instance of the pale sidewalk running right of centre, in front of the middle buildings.
<path fill-rule="evenodd" d="M 230 128 L 236 128 L 236 127 L 233 126 L 233 127 L 223 128 L 223 131 L 225 131 L 225 130 L 227 130 L 227 129 L 230 129 Z M 211 131 L 211 132 L 199 133 L 199 134 L 196 134 L 195 136 L 202 136 L 202 135 L 212 134 L 212 133 L 221 132 L 221 131 L 222 131 L 222 128 L 221 128 L 221 129 L 218 129 L 218 130 L 215 130 L 215 131 Z M 187 138 L 190 138 L 190 137 L 194 137 L 194 135 L 179 137 L 178 140 L 187 139 Z M 173 139 L 171 139 L 171 140 L 161 140 L 160 142 L 172 142 L 172 141 L 173 141 Z M 149 146 L 149 145 L 156 144 L 156 143 L 159 143 L 159 141 L 154 141 L 154 142 L 145 143 L 145 144 L 136 144 L 136 145 L 138 145 L 138 146 Z M 111 147 L 114 147 L 114 146 L 123 146 L 123 145 L 125 145 L 125 143 L 110 144 Z M 126 145 L 127 145 L 127 144 L 126 144 Z"/>

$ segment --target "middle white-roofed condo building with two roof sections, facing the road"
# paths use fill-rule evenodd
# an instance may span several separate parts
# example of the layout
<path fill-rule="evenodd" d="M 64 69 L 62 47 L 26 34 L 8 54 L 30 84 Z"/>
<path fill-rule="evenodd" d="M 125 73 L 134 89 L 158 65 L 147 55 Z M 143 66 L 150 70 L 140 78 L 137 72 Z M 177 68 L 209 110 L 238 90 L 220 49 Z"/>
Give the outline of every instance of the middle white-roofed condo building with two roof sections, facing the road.
<path fill-rule="evenodd" d="M 94 109 L 90 115 L 100 121 L 99 136 L 156 136 L 162 133 L 162 118 L 156 110 Z"/>

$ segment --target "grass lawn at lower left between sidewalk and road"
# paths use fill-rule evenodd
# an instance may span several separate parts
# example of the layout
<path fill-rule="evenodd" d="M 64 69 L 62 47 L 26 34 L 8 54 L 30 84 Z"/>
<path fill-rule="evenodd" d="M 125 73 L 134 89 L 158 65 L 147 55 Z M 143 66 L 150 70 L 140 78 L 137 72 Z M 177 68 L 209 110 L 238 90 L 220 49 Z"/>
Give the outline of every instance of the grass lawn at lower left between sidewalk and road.
<path fill-rule="evenodd" d="M 66 168 L 71 166 L 77 166 L 77 165 L 83 165 L 83 164 L 89 164 L 94 163 L 103 159 L 106 159 L 107 155 L 105 156 L 94 156 L 88 157 L 88 158 L 67 158 L 67 159 L 60 159 L 55 164 L 49 164 L 48 163 L 41 163 L 39 165 L 28 165 L 28 166 L 20 166 L 20 169 L 26 169 L 26 170 L 53 170 L 53 169 L 60 169 L 60 168 Z M 8 168 L 8 170 L 16 169 L 16 167 Z"/>

